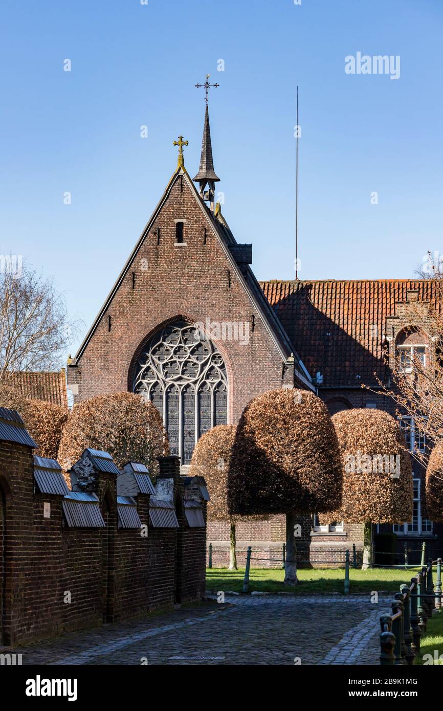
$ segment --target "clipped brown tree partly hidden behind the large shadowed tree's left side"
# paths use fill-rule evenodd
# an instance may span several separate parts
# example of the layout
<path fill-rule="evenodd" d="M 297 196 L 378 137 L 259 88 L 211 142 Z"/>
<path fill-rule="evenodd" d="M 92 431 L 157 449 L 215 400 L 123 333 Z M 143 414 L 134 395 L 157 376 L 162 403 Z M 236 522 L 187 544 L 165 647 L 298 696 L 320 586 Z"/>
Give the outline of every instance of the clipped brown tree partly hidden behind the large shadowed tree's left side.
<path fill-rule="evenodd" d="M 210 501 L 208 520 L 228 521 L 230 524 L 229 570 L 237 570 L 235 524 L 240 521 L 260 520 L 264 516 L 231 516 L 228 511 L 228 473 L 235 437 L 233 424 L 219 424 L 201 436 L 193 451 L 190 476 L 204 476 Z"/>

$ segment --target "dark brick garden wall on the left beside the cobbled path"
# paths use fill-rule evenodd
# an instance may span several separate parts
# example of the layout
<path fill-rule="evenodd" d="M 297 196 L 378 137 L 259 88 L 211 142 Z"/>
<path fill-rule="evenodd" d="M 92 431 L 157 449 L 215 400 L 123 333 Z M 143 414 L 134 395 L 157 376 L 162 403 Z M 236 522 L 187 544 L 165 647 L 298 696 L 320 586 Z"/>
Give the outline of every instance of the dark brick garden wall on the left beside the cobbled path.
<path fill-rule="evenodd" d="M 183 492 L 183 483 L 177 488 Z M 97 495 L 107 528 L 68 528 L 63 496 L 34 493 L 32 449 L 0 442 L 0 645 L 201 599 L 206 529 L 183 520 L 179 529 L 149 527 L 147 536 L 118 529 L 116 475 L 103 474 Z M 149 496 L 137 498 L 140 520 L 148 523 Z M 43 517 L 44 503 L 50 518 Z"/>

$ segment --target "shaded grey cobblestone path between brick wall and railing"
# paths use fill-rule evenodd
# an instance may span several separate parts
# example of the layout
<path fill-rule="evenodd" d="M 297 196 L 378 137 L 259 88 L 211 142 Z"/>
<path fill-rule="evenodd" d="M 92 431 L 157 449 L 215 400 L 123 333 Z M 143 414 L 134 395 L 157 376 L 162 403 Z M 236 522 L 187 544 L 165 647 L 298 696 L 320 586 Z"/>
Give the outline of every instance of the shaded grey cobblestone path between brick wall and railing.
<path fill-rule="evenodd" d="M 390 598 L 226 596 L 15 649 L 23 664 L 378 664 Z"/>

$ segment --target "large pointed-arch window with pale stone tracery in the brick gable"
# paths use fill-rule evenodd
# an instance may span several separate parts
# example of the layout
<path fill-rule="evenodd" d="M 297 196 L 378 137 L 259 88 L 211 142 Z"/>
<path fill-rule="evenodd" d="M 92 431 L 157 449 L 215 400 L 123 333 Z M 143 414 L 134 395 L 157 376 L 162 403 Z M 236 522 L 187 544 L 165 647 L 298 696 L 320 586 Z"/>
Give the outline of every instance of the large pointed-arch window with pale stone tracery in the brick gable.
<path fill-rule="evenodd" d="M 179 321 L 154 334 L 137 363 L 134 392 L 163 417 L 171 454 L 189 464 L 198 437 L 226 424 L 228 378 L 212 341 Z"/>

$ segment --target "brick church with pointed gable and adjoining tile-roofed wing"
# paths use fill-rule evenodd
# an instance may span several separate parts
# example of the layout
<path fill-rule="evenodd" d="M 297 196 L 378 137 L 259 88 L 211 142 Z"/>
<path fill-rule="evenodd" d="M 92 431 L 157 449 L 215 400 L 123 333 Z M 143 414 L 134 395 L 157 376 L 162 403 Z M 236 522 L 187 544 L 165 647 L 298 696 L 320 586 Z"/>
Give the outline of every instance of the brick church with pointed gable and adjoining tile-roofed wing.
<path fill-rule="evenodd" d="M 415 345 L 429 348 L 426 324 L 412 324 L 410 306 L 431 300 L 432 285 L 259 284 L 250 267 L 252 245 L 237 244 L 215 205 L 218 176 L 207 107 L 195 178 L 184 165 L 186 141 L 179 137 L 176 144 L 176 171 L 78 353 L 68 360 L 73 402 L 122 390 L 148 397 L 164 417 L 171 454 L 181 457 L 183 474 L 203 432 L 235 424 L 252 397 L 274 388 L 316 392 L 331 414 L 351 407 L 395 414 L 379 380 L 389 385 L 397 348 L 414 347 L 406 326 L 419 326 L 424 342 Z M 415 550 L 415 542 L 425 539 L 437 549 L 442 532 L 426 518 L 422 472 L 414 466 L 415 517 L 396 529 L 399 550 L 404 542 Z M 353 543 L 362 550 L 363 526 L 324 527 L 310 516 L 302 523 L 300 562 L 343 560 Z M 283 516 L 238 524 L 239 564 L 252 545 L 279 565 L 284 540 Z M 225 565 L 228 523 L 209 522 L 209 541 L 214 565 Z"/>

